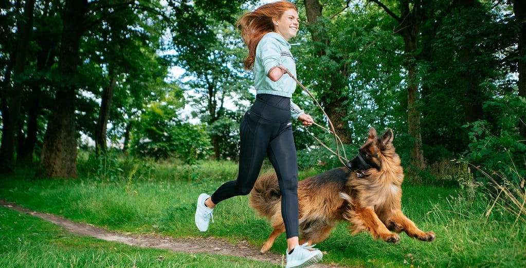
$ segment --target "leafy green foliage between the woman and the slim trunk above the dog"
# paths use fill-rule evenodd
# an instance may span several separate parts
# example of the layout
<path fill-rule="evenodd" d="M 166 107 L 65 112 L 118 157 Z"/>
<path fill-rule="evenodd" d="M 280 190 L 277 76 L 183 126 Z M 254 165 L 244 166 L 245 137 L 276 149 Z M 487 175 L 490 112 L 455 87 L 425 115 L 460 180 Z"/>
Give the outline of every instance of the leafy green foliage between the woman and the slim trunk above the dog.
<path fill-rule="evenodd" d="M 336 108 L 355 146 L 365 141 L 371 126 L 390 127 L 397 135 L 407 132 L 407 94 L 400 72 L 403 55 L 398 53 L 402 43 L 392 33 L 391 19 L 372 5 L 350 6 L 340 12 L 341 2 L 324 4 L 317 23 L 307 25 L 308 33 L 298 35 L 301 45 L 292 47 L 292 53 L 298 58 L 299 80 L 324 109 L 342 100 Z M 312 36 L 317 38 L 312 40 Z M 294 98 L 301 95 L 296 90 Z M 304 102 L 306 105 L 301 107 L 315 121 L 326 122 L 310 99 Z M 296 136 L 304 143 L 317 145 L 308 137 Z"/>

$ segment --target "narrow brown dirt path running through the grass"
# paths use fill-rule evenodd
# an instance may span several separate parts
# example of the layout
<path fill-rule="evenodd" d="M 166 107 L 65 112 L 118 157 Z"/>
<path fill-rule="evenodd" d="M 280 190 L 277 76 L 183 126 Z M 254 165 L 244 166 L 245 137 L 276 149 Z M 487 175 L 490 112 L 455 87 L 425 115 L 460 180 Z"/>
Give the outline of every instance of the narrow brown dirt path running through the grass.
<path fill-rule="evenodd" d="M 230 244 L 224 240 L 216 238 L 166 238 L 154 235 L 134 235 L 107 231 L 102 228 L 95 227 L 86 223 L 77 223 L 70 220 L 58 217 L 56 215 L 36 212 L 20 207 L 19 205 L 0 199 L 0 205 L 3 207 L 23 212 L 35 217 L 44 219 L 54 224 L 63 226 L 68 231 L 92 238 L 102 239 L 106 241 L 113 241 L 124 243 L 132 246 L 140 246 L 142 248 L 156 248 L 167 249 L 175 252 L 183 253 L 208 253 L 221 254 L 237 257 L 244 257 L 246 259 L 270 262 L 275 264 L 284 264 L 284 256 L 275 253 L 259 252 L 259 249 L 250 245 L 246 241 L 238 241 L 236 244 Z M 339 267 L 337 265 L 316 264 L 312 267 Z"/>

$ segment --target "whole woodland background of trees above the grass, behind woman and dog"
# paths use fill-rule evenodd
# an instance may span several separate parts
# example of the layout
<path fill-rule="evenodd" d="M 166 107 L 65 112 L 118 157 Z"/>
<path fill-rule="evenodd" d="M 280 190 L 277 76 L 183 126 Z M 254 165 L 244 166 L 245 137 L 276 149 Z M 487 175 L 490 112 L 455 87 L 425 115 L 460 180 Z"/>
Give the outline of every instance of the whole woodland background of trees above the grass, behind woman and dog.
<path fill-rule="evenodd" d="M 456 159 L 524 187 L 526 2 L 294 3 L 298 79 L 350 154 L 369 127 L 391 128 L 422 182 Z M 0 170 L 77 178 L 79 150 L 235 161 L 255 90 L 234 23 L 258 4 L 0 0 Z M 327 125 L 299 87 L 293 98 Z M 338 166 L 295 128 L 300 168 Z"/>

